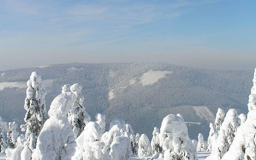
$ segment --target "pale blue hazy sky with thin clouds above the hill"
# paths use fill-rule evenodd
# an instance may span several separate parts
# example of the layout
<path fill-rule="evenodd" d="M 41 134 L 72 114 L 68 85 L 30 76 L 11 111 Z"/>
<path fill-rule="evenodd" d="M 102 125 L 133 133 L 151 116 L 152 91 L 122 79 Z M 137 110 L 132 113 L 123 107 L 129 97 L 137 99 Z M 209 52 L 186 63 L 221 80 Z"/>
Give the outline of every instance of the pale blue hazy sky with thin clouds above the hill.
<path fill-rule="evenodd" d="M 0 71 L 68 62 L 256 67 L 256 0 L 0 0 Z"/>

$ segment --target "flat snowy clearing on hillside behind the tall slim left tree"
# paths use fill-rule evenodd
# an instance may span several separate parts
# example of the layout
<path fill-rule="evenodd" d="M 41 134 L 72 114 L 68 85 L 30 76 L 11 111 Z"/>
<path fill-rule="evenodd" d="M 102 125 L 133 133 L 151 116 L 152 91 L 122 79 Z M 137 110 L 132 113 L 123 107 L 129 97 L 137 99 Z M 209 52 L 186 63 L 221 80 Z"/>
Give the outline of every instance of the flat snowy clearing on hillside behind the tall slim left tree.
<path fill-rule="evenodd" d="M 53 84 L 53 80 L 44 80 L 45 85 L 48 87 Z M 27 82 L 1 82 L 0 91 L 4 87 L 18 87 L 18 88 L 27 88 Z"/>

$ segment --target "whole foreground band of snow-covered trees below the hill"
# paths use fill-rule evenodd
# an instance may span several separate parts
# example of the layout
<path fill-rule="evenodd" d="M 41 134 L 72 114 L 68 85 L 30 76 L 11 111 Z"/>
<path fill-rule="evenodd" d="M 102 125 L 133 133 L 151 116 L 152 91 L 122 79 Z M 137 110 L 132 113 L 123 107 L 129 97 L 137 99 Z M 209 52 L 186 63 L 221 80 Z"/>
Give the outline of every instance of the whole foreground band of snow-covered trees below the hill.
<path fill-rule="evenodd" d="M 113 118 L 106 128 L 106 115 L 87 113 L 82 88 L 78 83 L 65 84 L 46 111 L 44 81 L 32 72 L 20 125 L 25 133 L 19 133 L 15 121 L 4 126 L 7 123 L 0 118 L 1 155 L 7 160 L 198 160 L 206 157 L 199 157 L 202 152 L 210 152 L 206 160 L 256 159 L 256 69 L 247 118 L 236 109 L 225 113 L 218 108 L 208 138 L 199 133 L 194 140 L 182 114 L 166 113 L 152 135 L 134 133 L 122 117 Z"/>

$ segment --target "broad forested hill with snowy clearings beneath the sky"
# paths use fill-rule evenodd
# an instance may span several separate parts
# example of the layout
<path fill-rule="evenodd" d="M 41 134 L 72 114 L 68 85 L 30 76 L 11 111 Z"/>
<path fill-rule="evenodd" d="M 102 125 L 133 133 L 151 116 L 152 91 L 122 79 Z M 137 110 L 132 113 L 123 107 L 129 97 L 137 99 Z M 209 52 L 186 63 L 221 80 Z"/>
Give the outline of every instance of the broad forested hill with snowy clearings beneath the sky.
<path fill-rule="evenodd" d="M 26 81 L 38 72 L 46 83 L 46 104 L 64 84 L 83 85 L 85 106 L 92 120 L 104 113 L 107 123 L 122 117 L 135 132 L 151 137 L 163 117 L 180 113 L 189 136 L 208 136 L 208 123 L 218 107 L 246 113 L 253 70 L 215 71 L 160 62 L 57 64 L 0 71 L 0 116 L 24 123 Z M 108 128 L 108 127 L 107 127 Z"/>

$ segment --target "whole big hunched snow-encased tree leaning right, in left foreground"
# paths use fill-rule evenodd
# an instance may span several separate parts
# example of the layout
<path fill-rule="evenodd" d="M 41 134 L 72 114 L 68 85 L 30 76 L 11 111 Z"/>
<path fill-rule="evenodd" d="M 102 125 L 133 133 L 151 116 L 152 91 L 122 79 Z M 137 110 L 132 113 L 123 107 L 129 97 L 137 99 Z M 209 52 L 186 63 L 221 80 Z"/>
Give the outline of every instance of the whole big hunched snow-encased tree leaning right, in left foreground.
<path fill-rule="evenodd" d="M 32 160 L 70 160 L 75 153 L 75 134 L 69 125 L 67 113 L 76 101 L 76 95 L 65 92 L 53 99 L 46 120 L 37 138 Z"/>

